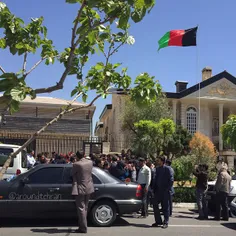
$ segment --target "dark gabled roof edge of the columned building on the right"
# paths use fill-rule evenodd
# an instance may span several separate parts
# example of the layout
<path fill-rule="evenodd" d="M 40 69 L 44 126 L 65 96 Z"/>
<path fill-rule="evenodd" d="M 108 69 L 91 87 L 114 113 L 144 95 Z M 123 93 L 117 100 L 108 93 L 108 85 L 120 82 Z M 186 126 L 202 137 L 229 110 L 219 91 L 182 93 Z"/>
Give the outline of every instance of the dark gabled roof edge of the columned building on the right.
<path fill-rule="evenodd" d="M 188 96 L 189 94 L 192 94 L 196 91 L 198 91 L 199 89 L 202 89 L 202 88 L 205 88 L 207 87 L 208 85 L 211 85 L 221 79 L 227 79 L 228 81 L 230 81 L 231 83 L 235 84 L 236 85 L 236 77 L 234 77 L 233 75 L 231 75 L 229 72 L 227 71 L 223 71 L 217 75 L 214 75 L 213 77 L 207 79 L 207 80 L 204 80 L 198 84 L 195 84 L 193 85 L 192 87 L 190 88 L 187 88 L 179 93 L 174 93 L 174 92 L 166 92 L 166 96 L 167 98 L 176 98 L 176 99 L 180 99 L 180 98 L 183 98 L 183 97 L 186 97 Z"/>

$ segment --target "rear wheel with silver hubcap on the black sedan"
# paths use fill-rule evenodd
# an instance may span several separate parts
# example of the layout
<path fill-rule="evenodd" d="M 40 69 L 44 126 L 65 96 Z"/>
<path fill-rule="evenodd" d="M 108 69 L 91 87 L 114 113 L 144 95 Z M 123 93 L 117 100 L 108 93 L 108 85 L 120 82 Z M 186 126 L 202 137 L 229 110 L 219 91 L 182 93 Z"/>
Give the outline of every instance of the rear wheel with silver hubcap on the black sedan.
<path fill-rule="evenodd" d="M 111 201 L 99 201 L 91 210 L 91 220 L 96 226 L 108 227 L 116 220 L 116 206 Z"/>

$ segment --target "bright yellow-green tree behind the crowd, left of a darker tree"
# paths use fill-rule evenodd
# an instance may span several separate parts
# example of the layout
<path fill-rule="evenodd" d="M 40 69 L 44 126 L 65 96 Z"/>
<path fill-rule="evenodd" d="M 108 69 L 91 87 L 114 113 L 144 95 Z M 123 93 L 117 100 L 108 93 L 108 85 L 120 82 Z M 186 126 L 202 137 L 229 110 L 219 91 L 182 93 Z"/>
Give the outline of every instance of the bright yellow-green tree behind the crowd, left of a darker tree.
<path fill-rule="evenodd" d="M 134 124 L 137 136 L 134 148 L 142 155 L 160 155 L 168 146 L 175 132 L 175 124 L 171 119 L 161 119 L 159 122 L 141 120 Z"/>

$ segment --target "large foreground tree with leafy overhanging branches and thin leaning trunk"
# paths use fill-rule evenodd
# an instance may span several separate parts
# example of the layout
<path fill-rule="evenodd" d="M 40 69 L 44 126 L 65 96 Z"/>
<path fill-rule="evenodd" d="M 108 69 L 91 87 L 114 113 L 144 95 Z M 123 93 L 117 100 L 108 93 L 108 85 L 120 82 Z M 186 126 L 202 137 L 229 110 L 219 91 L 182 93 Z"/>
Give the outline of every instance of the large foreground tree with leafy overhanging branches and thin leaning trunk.
<path fill-rule="evenodd" d="M 9 50 L 13 55 L 22 57 L 22 67 L 18 72 L 6 72 L 0 66 L 0 91 L 3 96 L 0 104 L 5 106 L 5 112 L 14 113 L 19 109 L 20 103 L 30 96 L 34 99 L 37 94 L 51 93 L 63 89 L 68 76 L 77 78 L 77 86 L 73 88 L 71 96 L 74 97 L 68 106 L 37 131 L 16 152 L 9 156 L 0 172 L 0 179 L 8 168 L 12 158 L 24 147 L 29 145 L 41 132 L 63 115 L 73 112 L 73 101 L 82 98 L 87 101 L 90 91 L 95 91 L 96 96 L 90 98 L 91 106 L 98 98 L 110 93 L 111 88 L 123 89 L 130 96 L 131 101 L 140 105 L 152 103 L 161 92 L 161 86 L 154 77 L 148 73 L 142 73 L 131 86 L 131 77 L 127 74 L 127 68 L 120 68 L 121 63 L 110 62 L 111 57 L 118 52 L 124 44 L 133 44 L 134 38 L 129 35 L 130 22 L 140 22 L 147 12 L 150 12 L 155 0 L 66 0 L 67 3 L 78 6 L 78 13 L 73 21 L 71 42 L 64 51 L 59 52 L 53 46 L 53 41 L 47 38 L 47 28 L 43 25 L 43 17 L 24 21 L 11 13 L 6 4 L 0 2 L 0 28 L 3 35 L 0 37 L 0 48 Z M 1 31 L 1 32 L 2 32 Z M 27 60 L 30 54 L 40 53 L 40 59 L 27 68 Z M 97 62 L 87 74 L 84 68 L 88 60 L 96 53 L 104 55 L 104 61 Z M 64 71 L 55 85 L 45 88 L 31 88 L 26 80 L 28 76 L 42 63 L 46 65 L 59 61 L 64 66 Z M 82 107 L 81 107 L 82 108 Z M 78 109 L 78 108 L 77 108 Z"/>

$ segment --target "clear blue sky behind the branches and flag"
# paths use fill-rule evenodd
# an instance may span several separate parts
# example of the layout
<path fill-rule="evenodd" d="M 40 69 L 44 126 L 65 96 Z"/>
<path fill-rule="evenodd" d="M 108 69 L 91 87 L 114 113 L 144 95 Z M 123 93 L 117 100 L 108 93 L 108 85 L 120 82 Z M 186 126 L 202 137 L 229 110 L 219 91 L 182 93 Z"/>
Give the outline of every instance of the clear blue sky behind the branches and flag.
<path fill-rule="evenodd" d="M 59 51 L 70 44 L 72 21 L 79 5 L 66 4 L 65 0 L 4 0 L 10 10 L 26 23 L 30 18 L 43 16 L 52 39 Z M 141 23 L 131 23 L 130 35 L 135 44 L 125 45 L 112 62 L 121 62 L 128 67 L 128 74 L 148 72 L 159 80 L 164 91 L 175 92 L 175 81 L 188 81 L 188 87 L 201 80 L 201 70 L 210 66 L 213 75 L 227 70 L 236 76 L 236 1 L 235 0 L 156 0 L 156 5 Z M 198 25 L 197 47 L 168 47 L 157 52 L 158 40 L 170 30 L 188 29 Z M 0 37 L 2 32 L 0 31 Z M 39 55 L 28 58 L 28 68 L 39 60 Z M 102 55 L 93 57 L 90 66 L 104 61 Z M 23 58 L 11 56 L 9 51 L 0 51 L 0 65 L 8 72 L 22 68 Z M 59 80 L 63 65 L 41 64 L 28 78 L 33 88 L 54 85 Z M 44 94 L 71 99 L 70 93 L 76 86 L 76 78 L 69 76 L 64 89 Z M 94 94 L 90 94 L 90 100 Z M 104 106 L 111 97 L 98 100 L 93 124 L 99 119 Z"/>

